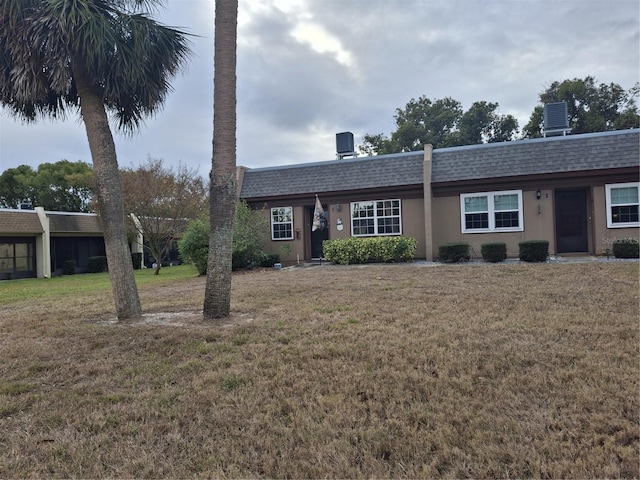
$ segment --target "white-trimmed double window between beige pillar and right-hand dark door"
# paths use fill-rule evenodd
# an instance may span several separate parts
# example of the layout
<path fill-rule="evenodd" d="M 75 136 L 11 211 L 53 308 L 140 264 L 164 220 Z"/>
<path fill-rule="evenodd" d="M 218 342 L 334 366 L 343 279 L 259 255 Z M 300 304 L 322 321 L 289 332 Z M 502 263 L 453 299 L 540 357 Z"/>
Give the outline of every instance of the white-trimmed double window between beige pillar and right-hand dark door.
<path fill-rule="evenodd" d="M 521 232 L 522 190 L 460 195 L 462 233 Z"/>

